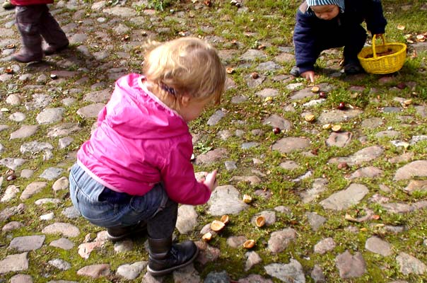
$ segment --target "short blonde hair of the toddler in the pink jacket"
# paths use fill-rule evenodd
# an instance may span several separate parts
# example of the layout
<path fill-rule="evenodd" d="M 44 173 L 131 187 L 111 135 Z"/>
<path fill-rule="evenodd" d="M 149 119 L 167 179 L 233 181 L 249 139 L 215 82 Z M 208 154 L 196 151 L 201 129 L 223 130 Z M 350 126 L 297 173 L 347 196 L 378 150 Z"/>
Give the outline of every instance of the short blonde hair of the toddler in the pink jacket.
<path fill-rule="evenodd" d="M 179 108 L 183 95 L 220 102 L 226 70 L 214 47 L 199 38 L 182 37 L 163 44 L 149 42 L 145 49 L 144 75 L 166 104 Z"/>

